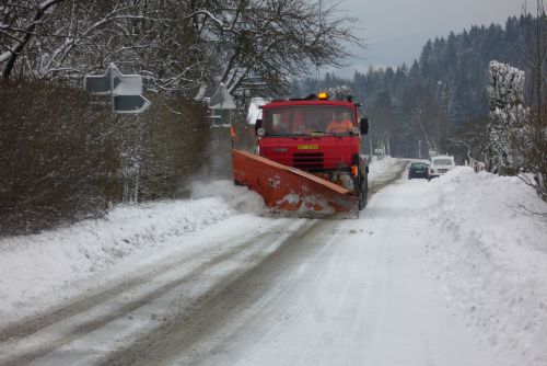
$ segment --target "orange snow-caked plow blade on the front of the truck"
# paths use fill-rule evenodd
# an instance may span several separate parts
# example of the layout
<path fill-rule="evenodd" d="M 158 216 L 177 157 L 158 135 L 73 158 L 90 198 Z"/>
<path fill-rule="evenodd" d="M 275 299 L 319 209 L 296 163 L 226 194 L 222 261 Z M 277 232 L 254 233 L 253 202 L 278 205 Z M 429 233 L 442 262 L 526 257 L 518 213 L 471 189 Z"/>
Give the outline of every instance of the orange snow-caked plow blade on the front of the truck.
<path fill-rule="evenodd" d="M 300 169 L 232 149 L 235 184 L 263 196 L 267 207 L 300 217 L 356 217 L 359 198 L 349 190 Z"/>

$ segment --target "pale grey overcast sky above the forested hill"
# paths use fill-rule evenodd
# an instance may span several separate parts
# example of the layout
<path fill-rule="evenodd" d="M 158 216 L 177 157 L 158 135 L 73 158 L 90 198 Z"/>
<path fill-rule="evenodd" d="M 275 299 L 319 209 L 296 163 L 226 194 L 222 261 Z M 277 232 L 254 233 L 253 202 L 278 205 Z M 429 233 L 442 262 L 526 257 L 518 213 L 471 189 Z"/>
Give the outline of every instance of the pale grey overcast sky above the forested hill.
<path fill-rule="evenodd" d="M 528 1 L 528 10 L 532 3 Z M 430 38 L 446 37 L 451 31 L 461 33 L 472 25 L 502 26 L 510 15 L 521 13 L 524 0 L 341 0 L 338 8 L 358 19 L 357 32 L 368 48 L 359 52 L 364 59 L 352 61 L 350 68 L 335 71 L 352 76 L 370 65 L 396 67 L 410 65 Z"/>

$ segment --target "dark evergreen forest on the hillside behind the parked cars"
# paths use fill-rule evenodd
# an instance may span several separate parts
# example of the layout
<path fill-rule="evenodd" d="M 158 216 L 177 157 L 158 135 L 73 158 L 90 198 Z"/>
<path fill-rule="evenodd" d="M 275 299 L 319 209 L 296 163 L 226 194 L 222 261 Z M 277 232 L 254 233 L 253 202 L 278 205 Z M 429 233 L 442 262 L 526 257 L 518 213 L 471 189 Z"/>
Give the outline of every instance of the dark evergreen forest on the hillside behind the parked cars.
<path fill-rule="evenodd" d="M 372 149 L 409 158 L 428 158 L 430 151 L 453 153 L 459 163 L 470 153 L 485 161 L 484 146 L 472 138 L 465 141 L 462 136 L 485 138 L 489 62 L 497 60 L 525 70 L 525 99 L 534 100 L 537 92 L 526 45 L 531 30 L 544 22 L 544 18 L 528 13 L 509 18 L 504 26 L 474 25 L 463 33 L 428 41 L 410 66 L 370 68 L 366 73 L 356 72 L 351 80 L 327 73 L 321 84 L 349 90 L 362 101 L 371 121 Z M 545 34 L 542 36 L 545 43 Z M 545 70 L 545 62 L 542 68 Z M 305 94 L 315 85 L 316 80 L 306 79 L 293 93 Z"/>

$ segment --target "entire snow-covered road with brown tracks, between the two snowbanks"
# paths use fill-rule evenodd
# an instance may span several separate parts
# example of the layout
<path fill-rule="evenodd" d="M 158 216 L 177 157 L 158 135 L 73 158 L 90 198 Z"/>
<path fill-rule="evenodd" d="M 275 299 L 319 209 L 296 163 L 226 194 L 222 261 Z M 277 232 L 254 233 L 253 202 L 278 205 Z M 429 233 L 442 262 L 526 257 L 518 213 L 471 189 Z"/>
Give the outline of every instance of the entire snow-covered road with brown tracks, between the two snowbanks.
<path fill-rule="evenodd" d="M 238 214 L 166 239 L 162 251 L 128 255 L 115 271 L 74 272 L 85 285 L 60 286 L 67 299 L 3 319 L 0 365 L 540 365 L 544 354 L 521 354 L 520 343 L 514 357 L 494 354 L 486 331 L 447 304 L 466 288 L 440 282 L 450 268 L 431 267 L 443 256 L 428 258 L 440 239 L 424 242 L 424 229 L 439 232 L 428 228 L 434 199 L 424 193 L 442 186 L 407 181 L 404 162 L 384 168 L 371 173 L 359 219 Z M 535 290 L 544 288 L 537 281 Z M 28 301 L 22 308 L 33 309 Z M 531 309 L 529 339 L 540 339 L 546 311 Z"/>

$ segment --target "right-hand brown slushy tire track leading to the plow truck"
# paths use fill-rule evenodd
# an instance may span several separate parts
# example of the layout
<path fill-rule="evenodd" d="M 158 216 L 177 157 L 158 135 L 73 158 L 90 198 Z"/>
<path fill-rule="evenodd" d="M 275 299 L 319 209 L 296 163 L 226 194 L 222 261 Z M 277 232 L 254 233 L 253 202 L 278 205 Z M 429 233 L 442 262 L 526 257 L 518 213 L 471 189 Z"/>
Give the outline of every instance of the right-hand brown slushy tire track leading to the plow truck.
<path fill-rule="evenodd" d="M 303 227 L 251 270 L 235 274 L 226 283 L 203 294 L 191 311 L 181 309 L 168 323 L 143 334 L 128 347 L 113 352 L 98 365 L 164 365 L 181 355 L 193 357 L 195 346 L 213 333 L 219 324 L 255 304 L 265 288 L 270 288 L 286 271 L 294 271 L 302 258 L 321 251 L 327 242 L 312 239 L 331 231 L 337 225 L 338 220 L 317 220 Z"/>

